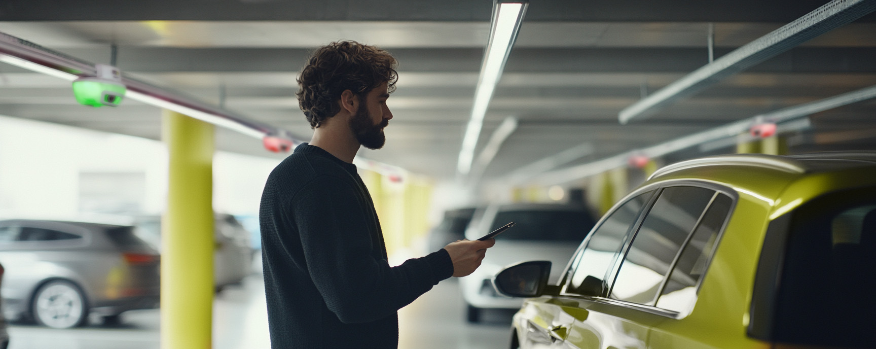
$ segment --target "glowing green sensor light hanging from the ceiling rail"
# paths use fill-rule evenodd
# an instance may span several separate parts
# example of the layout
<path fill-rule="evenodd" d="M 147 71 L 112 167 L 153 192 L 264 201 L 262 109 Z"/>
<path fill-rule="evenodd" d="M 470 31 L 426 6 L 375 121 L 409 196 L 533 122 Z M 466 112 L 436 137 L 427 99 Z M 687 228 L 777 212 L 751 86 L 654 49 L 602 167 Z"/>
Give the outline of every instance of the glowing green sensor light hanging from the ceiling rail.
<path fill-rule="evenodd" d="M 97 76 L 85 76 L 74 80 L 73 95 L 76 102 L 99 108 L 103 105 L 117 106 L 122 103 L 127 91 L 117 68 L 103 64 L 95 65 Z"/>

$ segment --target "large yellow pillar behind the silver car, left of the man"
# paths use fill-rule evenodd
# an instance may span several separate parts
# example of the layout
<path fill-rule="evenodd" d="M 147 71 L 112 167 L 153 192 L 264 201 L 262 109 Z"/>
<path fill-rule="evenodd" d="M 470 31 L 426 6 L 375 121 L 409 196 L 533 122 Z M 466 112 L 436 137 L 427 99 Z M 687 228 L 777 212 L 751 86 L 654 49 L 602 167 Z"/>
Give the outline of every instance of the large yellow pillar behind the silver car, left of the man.
<path fill-rule="evenodd" d="M 213 320 L 213 125 L 165 110 L 169 153 L 162 221 L 161 348 L 209 349 Z"/>

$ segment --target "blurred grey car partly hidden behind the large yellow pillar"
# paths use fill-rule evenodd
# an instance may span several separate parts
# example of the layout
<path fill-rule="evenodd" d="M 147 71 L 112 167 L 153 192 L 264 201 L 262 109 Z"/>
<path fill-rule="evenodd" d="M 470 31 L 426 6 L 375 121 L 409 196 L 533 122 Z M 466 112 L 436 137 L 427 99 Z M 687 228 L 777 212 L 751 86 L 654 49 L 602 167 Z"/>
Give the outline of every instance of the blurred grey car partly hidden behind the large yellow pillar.
<path fill-rule="evenodd" d="M 216 291 L 239 284 L 252 274 L 255 250 L 250 243 L 250 231 L 244 229 L 234 216 L 216 213 L 214 220 L 215 253 L 213 279 Z M 135 219 L 135 233 L 161 251 L 161 216 L 141 216 Z"/>

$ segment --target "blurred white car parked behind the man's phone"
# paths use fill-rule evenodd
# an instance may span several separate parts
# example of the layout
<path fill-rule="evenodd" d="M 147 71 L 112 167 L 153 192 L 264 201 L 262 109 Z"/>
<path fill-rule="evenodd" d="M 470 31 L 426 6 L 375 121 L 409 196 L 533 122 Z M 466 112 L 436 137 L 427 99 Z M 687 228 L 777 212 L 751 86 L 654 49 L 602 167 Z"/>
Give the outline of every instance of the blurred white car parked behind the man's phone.
<path fill-rule="evenodd" d="M 496 237 L 474 273 L 459 279 L 466 303 L 466 318 L 481 320 L 484 309 L 518 309 L 522 300 L 500 296 L 492 277 L 502 268 L 524 260 L 569 260 L 595 223 L 582 203 L 506 203 L 476 210 L 465 238 L 478 239 L 509 222 L 515 225 Z M 559 270 L 551 275 L 558 279 Z"/>

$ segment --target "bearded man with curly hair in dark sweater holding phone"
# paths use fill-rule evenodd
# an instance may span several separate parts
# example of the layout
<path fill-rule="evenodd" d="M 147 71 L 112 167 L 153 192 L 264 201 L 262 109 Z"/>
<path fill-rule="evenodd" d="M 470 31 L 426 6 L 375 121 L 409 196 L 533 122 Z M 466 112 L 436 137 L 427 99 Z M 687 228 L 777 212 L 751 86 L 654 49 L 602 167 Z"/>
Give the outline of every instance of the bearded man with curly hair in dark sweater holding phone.
<path fill-rule="evenodd" d="M 259 220 L 273 348 L 396 348 L 397 310 L 471 274 L 494 240 L 462 240 L 398 267 L 353 158 L 384 146 L 396 61 L 374 46 L 322 46 L 298 79 L 314 129 L 265 183 Z"/>

